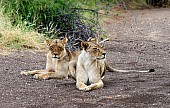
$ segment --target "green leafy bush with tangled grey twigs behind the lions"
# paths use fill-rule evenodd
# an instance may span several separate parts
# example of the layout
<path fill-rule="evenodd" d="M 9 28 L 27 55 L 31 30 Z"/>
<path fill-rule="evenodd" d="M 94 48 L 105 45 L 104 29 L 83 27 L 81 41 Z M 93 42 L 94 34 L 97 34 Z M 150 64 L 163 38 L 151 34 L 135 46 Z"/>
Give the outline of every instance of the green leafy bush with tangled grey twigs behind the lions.
<path fill-rule="evenodd" d="M 1 0 L 3 12 L 13 25 L 24 23 L 50 38 L 67 36 L 76 47 L 82 40 L 98 36 L 98 13 L 81 7 L 85 5 L 79 0 Z"/>

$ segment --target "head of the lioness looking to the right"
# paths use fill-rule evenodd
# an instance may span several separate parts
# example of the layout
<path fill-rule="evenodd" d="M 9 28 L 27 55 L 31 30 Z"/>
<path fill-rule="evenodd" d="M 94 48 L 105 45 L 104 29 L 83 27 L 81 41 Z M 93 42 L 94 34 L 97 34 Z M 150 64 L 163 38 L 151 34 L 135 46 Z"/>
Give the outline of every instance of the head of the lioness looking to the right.
<path fill-rule="evenodd" d="M 104 49 L 98 44 L 96 38 L 91 39 L 90 42 L 83 41 L 81 43 L 83 50 L 93 59 L 105 59 L 106 52 Z"/>

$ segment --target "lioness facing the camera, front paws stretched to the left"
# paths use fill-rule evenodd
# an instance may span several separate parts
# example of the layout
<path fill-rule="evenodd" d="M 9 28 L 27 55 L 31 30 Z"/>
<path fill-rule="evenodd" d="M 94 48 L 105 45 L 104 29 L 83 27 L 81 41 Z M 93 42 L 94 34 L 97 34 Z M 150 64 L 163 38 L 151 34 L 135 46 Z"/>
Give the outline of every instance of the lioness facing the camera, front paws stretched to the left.
<path fill-rule="evenodd" d="M 71 60 L 71 53 L 65 48 L 67 38 L 55 39 L 52 41 L 46 40 L 49 48 L 47 54 L 47 62 L 45 70 L 23 71 L 21 75 L 34 75 L 37 79 L 59 78 L 63 79 L 68 77 L 68 66 Z"/>

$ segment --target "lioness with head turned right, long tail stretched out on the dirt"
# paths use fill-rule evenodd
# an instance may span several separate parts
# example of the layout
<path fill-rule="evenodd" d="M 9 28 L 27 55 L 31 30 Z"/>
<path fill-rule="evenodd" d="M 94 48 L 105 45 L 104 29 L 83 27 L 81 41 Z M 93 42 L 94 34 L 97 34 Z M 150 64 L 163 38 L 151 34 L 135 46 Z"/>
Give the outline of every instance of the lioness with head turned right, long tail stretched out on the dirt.
<path fill-rule="evenodd" d="M 103 76 L 106 69 L 113 72 L 153 72 L 136 70 L 117 70 L 108 66 L 106 52 L 97 40 L 81 43 L 83 50 L 77 60 L 70 61 L 69 73 L 76 79 L 76 87 L 82 91 L 90 91 L 103 87 Z"/>

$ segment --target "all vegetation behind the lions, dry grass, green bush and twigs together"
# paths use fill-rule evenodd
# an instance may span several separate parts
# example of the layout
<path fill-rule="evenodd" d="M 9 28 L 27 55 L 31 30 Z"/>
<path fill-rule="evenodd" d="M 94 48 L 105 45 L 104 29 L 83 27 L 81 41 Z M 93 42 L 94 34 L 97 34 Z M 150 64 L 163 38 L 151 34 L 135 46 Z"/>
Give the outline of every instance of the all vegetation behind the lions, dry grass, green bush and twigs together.
<path fill-rule="evenodd" d="M 153 1 L 153 0 L 150 0 Z M 113 6 L 146 8 L 148 0 L 0 0 L 0 48 L 41 49 L 44 38 L 67 36 L 76 49 L 89 37 L 106 37 L 100 18 Z M 151 4 L 153 4 L 151 2 Z M 114 12 L 113 12 L 114 14 Z M 78 44 L 77 44 L 78 43 Z"/>

